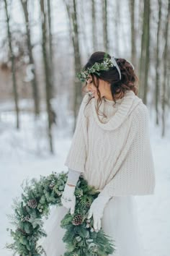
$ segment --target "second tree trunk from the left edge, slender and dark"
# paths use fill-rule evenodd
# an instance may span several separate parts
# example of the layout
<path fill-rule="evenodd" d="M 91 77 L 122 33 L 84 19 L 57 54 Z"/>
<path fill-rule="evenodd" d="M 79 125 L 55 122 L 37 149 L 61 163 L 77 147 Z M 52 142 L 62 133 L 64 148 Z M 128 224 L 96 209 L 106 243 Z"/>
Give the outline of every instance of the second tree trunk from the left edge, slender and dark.
<path fill-rule="evenodd" d="M 27 48 L 28 48 L 28 54 L 30 57 L 30 64 L 33 65 L 33 69 L 32 69 L 33 79 L 31 82 L 32 82 L 32 93 L 33 93 L 33 98 L 35 102 L 35 115 L 39 115 L 40 114 L 40 98 L 39 98 L 37 79 L 36 79 L 36 73 L 35 73 L 35 61 L 32 54 L 30 21 L 29 21 L 28 9 L 27 9 L 27 0 L 20 0 L 20 1 L 22 4 L 22 9 L 24 11 L 24 20 L 25 20 L 26 31 L 27 31 Z"/>

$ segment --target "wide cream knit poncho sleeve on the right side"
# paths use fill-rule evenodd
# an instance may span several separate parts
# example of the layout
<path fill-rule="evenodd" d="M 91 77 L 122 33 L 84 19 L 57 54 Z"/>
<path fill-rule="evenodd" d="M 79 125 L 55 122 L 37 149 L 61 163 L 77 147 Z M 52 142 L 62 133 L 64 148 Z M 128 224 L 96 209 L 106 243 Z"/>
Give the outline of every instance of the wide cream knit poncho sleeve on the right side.
<path fill-rule="evenodd" d="M 132 119 L 128 140 L 114 166 L 115 175 L 99 195 L 153 194 L 155 175 L 148 117 L 146 105 L 138 106 Z"/>

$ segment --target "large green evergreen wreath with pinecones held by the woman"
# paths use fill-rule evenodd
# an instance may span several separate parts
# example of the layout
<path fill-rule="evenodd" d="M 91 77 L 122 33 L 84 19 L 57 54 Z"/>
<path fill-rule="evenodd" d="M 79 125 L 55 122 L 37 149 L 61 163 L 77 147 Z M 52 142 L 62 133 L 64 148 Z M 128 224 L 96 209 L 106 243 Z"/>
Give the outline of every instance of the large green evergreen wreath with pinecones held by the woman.
<path fill-rule="evenodd" d="M 14 214 L 7 215 L 10 223 L 16 226 L 10 229 L 14 243 L 6 243 L 6 249 L 12 249 L 13 255 L 40 256 L 45 253 L 41 245 L 37 245 L 42 236 L 47 236 L 43 229 L 42 217 L 48 218 L 50 205 L 61 206 L 61 195 L 67 181 L 67 173 L 53 172 L 49 176 L 40 176 L 40 180 L 26 179 L 22 183 L 22 200 L 14 200 Z M 115 245 L 109 236 L 100 229 L 93 229 L 93 218 L 87 219 L 91 202 L 99 195 L 94 187 L 87 184 L 83 176 L 79 176 L 76 184 L 76 207 L 73 215 L 69 213 L 61 221 L 66 229 L 63 242 L 66 243 L 64 256 L 107 256 L 115 252 Z M 6 229 L 9 231 L 9 229 Z M 45 253 L 46 255 L 46 253 Z"/>

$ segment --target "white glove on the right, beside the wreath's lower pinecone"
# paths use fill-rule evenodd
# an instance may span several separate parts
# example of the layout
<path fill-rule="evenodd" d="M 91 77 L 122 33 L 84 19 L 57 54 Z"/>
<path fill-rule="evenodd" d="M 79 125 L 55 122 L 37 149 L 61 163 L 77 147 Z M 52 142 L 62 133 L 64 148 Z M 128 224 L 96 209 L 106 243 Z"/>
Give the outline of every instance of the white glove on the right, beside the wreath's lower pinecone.
<path fill-rule="evenodd" d="M 103 216 L 104 208 L 110 198 L 111 197 L 101 195 L 94 199 L 94 201 L 91 203 L 89 215 L 87 218 L 91 218 L 91 216 L 93 216 L 95 231 L 99 231 L 101 229 L 101 219 Z"/>

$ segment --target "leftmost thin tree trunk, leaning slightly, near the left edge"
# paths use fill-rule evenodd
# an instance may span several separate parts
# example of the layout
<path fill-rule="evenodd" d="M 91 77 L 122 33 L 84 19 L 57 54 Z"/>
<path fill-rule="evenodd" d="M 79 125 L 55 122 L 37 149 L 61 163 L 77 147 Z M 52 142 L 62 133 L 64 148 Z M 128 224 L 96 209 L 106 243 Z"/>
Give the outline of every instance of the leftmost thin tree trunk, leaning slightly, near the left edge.
<path fill-rule="evenodd" d="M 8 12 L 8 6 L 7 6 L 6 0 L 4 0 L 4 4 L 5 4 L 5 13 L 6 13 L 7 35 L 8 35 L 8 40 L 9 40 L 10 59 L 12 61 L 12 84 L 13 84 L 15 111 L 17 114 L 16 127 L 17 127 L 17 129 L 19 129 L 19 107 L 18 107 L 17 80 L 16 80 L 16 74 L 15 74 L 14 52 L 12 49 L 12 34 L 11 34 L 10 27 L 9 27 L 9 12 Z"/>

